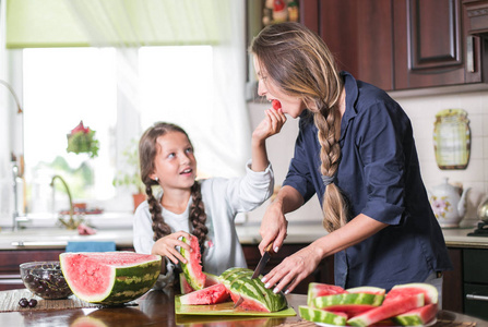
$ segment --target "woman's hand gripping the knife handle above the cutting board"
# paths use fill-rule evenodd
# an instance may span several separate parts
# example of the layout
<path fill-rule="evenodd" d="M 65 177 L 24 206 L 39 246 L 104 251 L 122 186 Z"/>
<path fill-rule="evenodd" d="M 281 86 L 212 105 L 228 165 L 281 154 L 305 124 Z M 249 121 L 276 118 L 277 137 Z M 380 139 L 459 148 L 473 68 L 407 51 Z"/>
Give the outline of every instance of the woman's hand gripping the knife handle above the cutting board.
<path fill-rule="evenodd" d="M 286 239 L 286 230 L 288 228 L 288 221 L 285 218 L 282 209 L 282 203 L 274 201 L 267 206 L 261 220 L 261 227 L 259 233 L 261 234 L 261 243 L 259 250 L 261 254 L 270 243 L 273 243 L 273 252 L 278 252 L 282 247 L 283 241 Z"/>

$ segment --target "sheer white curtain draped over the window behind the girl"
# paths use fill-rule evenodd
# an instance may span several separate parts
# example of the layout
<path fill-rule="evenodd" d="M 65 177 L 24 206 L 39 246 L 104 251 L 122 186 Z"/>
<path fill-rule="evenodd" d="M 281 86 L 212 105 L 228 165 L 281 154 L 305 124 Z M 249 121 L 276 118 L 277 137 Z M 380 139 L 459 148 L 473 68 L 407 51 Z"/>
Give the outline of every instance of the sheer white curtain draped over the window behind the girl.
<path fill-rule="evenodd" d="M 67 4 L 93 46 L 114 46 L 119 53 L 118 64 L 124 73 L 118 78 L 121 101 L 118 114 L 129 116 L 126 121 L 130 125 L 118 130 L 118 152 L 141 134 L 136 49 L 145 45 L 211 44 L 214 94 L 209 116 L 213 119 L 201 131 L 188 132 L 190 137 L 198 135 L 205 145 L 202 149 L 205 157 L 212 158 L 203 162 L 207 166 L 205 172 L 216 175 L 243 172 L 251 135 L 245 99 L 245 1 L 67 0 Z"/>

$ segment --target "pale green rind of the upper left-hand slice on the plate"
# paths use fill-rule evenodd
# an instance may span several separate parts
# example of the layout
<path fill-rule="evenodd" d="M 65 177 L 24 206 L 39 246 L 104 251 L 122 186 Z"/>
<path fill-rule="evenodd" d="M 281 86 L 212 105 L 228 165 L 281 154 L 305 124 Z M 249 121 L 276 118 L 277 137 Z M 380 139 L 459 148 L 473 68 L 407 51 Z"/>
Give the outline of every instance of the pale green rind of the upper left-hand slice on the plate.
<path fill-rule="evenodd" d="M 309 306 L 317 308 L 350 304 L 368 304 L 379 306 L 383 303 L 383 299 L 384 295 L 371 293 L 343 293 L 316 298 L 311 301 L 311 305 Z"/>

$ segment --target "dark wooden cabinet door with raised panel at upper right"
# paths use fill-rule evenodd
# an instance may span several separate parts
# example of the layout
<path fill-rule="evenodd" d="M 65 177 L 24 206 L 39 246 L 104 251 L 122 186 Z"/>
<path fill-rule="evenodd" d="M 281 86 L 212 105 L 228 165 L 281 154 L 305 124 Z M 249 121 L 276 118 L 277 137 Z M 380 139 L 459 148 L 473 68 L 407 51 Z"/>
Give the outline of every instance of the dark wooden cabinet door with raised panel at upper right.
<path fill-rule="evenodd" d="M 462 14 L 461 0 L 393 1 L 395 89 L 468 81 Z"/>

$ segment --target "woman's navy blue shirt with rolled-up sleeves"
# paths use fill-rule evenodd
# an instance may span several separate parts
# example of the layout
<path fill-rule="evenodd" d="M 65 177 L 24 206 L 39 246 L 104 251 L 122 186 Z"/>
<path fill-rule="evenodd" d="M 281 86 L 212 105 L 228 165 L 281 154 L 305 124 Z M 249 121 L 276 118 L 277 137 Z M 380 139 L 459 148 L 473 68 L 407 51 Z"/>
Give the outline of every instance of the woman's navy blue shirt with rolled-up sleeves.
<path fill-rule="evenodd" d="M 422 282 L 430 272 L 452 269 L 445 242 L 420 175 L 412 124 L 397 102 L 342 72 L 346 110 L 341 121 L 341 161 L 334 183 L 350 217 L 359 214 L 389 226 L 335 254 L 335 283 L 344 287 Z M 325 192 L 313 116 L 300 116 L 295 155 L 284 185 L 307 202 Z M 324 234 L 326 231 L 324 230 Z"/>

